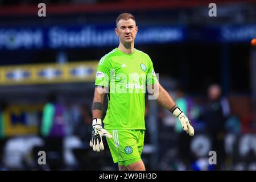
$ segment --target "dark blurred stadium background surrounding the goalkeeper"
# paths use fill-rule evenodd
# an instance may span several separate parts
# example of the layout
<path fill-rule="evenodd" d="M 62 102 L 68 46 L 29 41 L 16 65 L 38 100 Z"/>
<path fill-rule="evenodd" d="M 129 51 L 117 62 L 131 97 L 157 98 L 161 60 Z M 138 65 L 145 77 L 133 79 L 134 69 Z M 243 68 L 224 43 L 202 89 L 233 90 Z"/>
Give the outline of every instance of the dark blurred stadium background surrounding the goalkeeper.
<path fill-rule="evenodd" d="M 139 26 L 135 48 L 150 55 L 195 126 L 189 138 L 147 101 L 146 169 L 256 170 L 256 1 L 213 2 L 217 17 L 204 0 L 0 0 L 0 169 L 118 169 L 106 143 L 101 153 L 89 148 L 90 107 L 97 62 L 118 46 L 115 18 L 129 12 Z M 49 103 L 63 129 L 57 137 Z M 217 165 L 208 163 L 211 150 Z"/>

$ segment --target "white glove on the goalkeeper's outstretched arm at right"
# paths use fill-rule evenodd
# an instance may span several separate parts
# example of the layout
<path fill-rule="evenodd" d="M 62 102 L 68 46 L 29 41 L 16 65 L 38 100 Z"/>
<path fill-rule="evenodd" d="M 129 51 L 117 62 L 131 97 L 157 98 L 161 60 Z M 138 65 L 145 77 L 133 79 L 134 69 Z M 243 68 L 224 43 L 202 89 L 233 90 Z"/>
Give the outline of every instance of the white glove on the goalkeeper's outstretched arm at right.
<path fill-rule="evenodd" d="M 195 131 L 191 125 L 191 121 L 187 118 L 183 111 L 179 107 L 176 107 L 174 110 L 172 110 L 172 114 L 179 119 L 183 130 L 187 131 L 189 136 L 193 136 Z"/>

